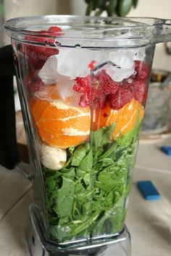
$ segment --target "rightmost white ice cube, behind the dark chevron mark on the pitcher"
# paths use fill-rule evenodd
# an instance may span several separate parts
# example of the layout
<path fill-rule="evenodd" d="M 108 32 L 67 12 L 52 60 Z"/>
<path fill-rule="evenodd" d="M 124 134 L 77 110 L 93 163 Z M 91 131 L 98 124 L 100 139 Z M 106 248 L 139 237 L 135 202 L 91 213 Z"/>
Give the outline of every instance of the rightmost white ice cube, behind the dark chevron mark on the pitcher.
<path fill-rule="evenodd" d="M 107 65 L 107 74 L 116 82 L 120 82 L 135 72 L 135 63 L 133 57 L 129 54 L 117 53 L 112 51 L 109 53 L 109 61 L 117 66 Z"/>

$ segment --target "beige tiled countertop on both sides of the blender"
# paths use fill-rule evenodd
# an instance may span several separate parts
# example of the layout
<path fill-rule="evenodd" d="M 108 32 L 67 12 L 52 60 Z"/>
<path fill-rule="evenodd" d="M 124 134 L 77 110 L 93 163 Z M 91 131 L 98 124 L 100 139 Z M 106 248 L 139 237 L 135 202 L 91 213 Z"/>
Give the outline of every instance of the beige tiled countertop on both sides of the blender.
<path fill-rule="evenodd" d="M 131 256 L 171 255 L 171 157 L 161 152 L 171 139 L 140 141 L 130 192 L 126 225 L 131 235 Z M 25 233 L 33 194 L 30 181 L 17 170 L 0 166 L 0 256 L 30 256 Z M 151 180 L 161 194 L 146 201 L 136 182 Z"/>

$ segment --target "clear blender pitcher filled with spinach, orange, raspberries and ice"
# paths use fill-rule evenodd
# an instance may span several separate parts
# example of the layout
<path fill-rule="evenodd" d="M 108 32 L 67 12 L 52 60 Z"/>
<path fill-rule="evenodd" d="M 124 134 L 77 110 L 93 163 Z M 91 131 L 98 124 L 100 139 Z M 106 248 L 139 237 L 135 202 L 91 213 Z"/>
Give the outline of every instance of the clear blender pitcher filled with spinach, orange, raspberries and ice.
<path fill-rule="evenodd" d="M 171 40 L 171 22 L 53 15 L 12 19 L 5 28 L 36 236 L 47 255 L 113 255 L 107 248 L 125 229 L 155 44 Z"/>

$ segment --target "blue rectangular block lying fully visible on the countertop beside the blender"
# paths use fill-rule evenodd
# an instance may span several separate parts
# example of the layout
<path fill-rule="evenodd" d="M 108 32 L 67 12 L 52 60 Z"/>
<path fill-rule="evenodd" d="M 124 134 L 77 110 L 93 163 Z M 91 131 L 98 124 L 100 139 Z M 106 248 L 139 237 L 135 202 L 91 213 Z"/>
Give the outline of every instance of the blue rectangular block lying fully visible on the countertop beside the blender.
<path fill-rule="evenodd" d="M 138 181 L 137 186 L 144 199 L 158 200 L 160 198 L 159 192 L 151 181 Z"/>

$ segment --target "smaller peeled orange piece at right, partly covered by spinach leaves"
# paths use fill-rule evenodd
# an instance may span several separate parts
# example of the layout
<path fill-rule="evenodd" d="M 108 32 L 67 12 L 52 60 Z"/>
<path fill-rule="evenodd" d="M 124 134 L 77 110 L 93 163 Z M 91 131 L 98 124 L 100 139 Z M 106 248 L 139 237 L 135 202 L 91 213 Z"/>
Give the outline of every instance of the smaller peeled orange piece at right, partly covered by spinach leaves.
<path fill-rule="evenodd" d="M 137 118 L 139 118 L 139 122 L 141 122 L 143 115 L 144 108 L 141 103 L 132 99 L 131 102 L 125 104 L 117 113 L 115 110 L 111 110 L 106 125 L 111 125 L 116 122 L 113 137 L 117 137 L 132 130 L 135 127 Z"/>

